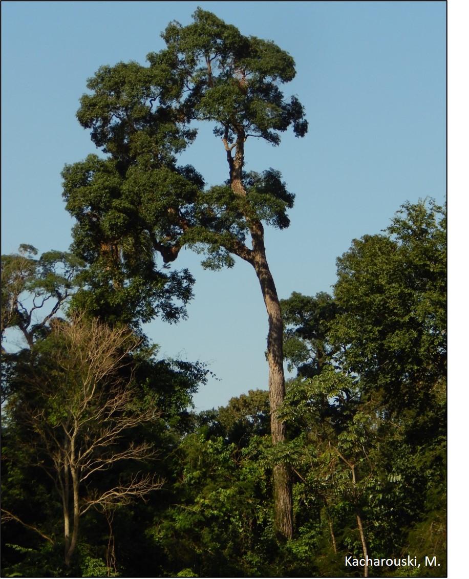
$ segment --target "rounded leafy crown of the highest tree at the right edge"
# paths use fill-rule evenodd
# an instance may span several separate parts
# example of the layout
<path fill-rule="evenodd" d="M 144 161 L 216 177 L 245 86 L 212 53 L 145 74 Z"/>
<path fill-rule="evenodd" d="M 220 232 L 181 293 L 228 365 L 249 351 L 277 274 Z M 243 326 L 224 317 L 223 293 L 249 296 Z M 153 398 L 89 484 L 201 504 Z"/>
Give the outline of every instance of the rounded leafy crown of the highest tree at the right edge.
<path fill-rule="evenodd" d="M 355 240 L 338 259 L 344 313 L 333 335 L 347 369 L 393 410 L 426 404 L 445 376 L 445 246 L 442 208 L 405 204 L 387 235 Z"/>

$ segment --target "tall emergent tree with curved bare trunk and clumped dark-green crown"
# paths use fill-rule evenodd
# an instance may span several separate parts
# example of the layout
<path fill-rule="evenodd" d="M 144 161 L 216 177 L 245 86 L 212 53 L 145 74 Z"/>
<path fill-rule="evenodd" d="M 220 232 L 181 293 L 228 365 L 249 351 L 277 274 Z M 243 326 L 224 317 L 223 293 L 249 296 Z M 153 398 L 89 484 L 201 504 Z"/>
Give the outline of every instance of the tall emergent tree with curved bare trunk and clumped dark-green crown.
<path fill-rule="evenodd" d="M 148 55 L 149 66 L 119 63 L 101 67 L 87 84 L 78 119 L 107 156 L 90 155 L 65 167 L 64 197 L 77 219 L 75 251 L 88 263 L 93 292 L 87 309 L 109 316 L 123 303 L 138 303 L 145 320 L 164 288 L 179 288 L 184 301 L 190 276 L 158 270 L 155 256 L 173 262 L 184 245 L 203 250 L 203 265 L 234 265 L 233 255 L 250 263 L 261 285 L 269 317 L 268 361 L 272 441 L 284 440 L 277 417 L 284 399 L 283 322 L 264 244 L 263 222 L 288 227 L 294 195 L 279 171 L 245 173 L 249 137 L 273 145 L 292 126 L 307 131 L 298 98 L 285 99 L 280 85 L 295 76 L 293 58 L 271 41 L 243 36 L 214 14 L 196 10 L 193 23 L 170 23 L 167 48 Z M 196 137 L 194 123 L 214 123 L 228 162 L 228 180 L 206 187 L 177 155 Z M 248 241 L 248 238 L 251 238 Z M 100 272 L 93 278 L 93 271 Z M 104 272 L 104 273 L 103 273 Z M 169 284 L 169 286 L 168 286 Z M 86 298 L 82 292 L 81 298 Z M 130 301 L 130 302 L 129 302 Z M 174 310 L 163 299 L 169 315 Z M 161 306 L 160 306 L 161 307 Z M 163 310 L 166 312 L 166 310 Z M 143 318 L 142 318 L 143 319 Z M 129 320 L 130 321 L 130 320 Z M 287 466 L 274 467 L 276 527 L 292 536 L 292 499 Z"/>

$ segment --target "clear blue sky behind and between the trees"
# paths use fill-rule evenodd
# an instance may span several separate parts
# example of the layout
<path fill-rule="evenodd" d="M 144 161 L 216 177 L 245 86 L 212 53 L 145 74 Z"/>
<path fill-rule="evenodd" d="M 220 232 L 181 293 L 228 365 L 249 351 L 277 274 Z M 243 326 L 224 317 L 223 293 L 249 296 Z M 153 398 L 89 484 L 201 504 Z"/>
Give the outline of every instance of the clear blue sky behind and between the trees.
<path fill-rule="evenodd" d="M 305 106 L 309 133 L 276 148 L 248 140 L 247 163 L 280 170 L 296 193 L 290 229 L 266 234 L 280 297 L 332 291 L 353 238 L 386 228 L 406 200 L 445 200 L 445 2 L 2 2 L 2 253 L 68 248 L 60 172 L 94 151 L 75 118 L 86 79 L 145 63 L 167 23 L 188 24 L 197 5 L 295 58 L 284 91 Z M 228 176 L 208 127 L 184 162 L 211 184 Z M 219 380 L 196 395 L 204 409 L 267 388 L 267 318 L 252 267 L 206 272 L 199 259 L 174 264 L 197 279 L 189 320 L 146 331 L 162 355 L 210 363 Z"/>

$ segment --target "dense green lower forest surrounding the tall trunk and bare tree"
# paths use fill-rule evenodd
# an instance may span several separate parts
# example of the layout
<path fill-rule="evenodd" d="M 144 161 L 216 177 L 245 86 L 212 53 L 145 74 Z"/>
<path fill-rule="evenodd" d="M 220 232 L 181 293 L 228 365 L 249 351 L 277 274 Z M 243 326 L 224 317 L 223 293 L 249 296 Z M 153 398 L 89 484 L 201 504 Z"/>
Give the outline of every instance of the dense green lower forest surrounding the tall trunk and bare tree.
<path fill-rule="evenodd" d="M 89 481 L 96 491 L 90 494 L 87 482 L 80 504 L 139 471 L 164 483 L 146 503 L 87 509 L 70 567 L 62 554 L 60 496 L 47 473 L 52 463 L 43 448 L 38 461 L 38 449 L 41 429 L 57 428 L 79 402 L 54 376 L 66 369 L 79 377 L 83 367 L 76 354 L 57 366 L 64 347 L 57 340 L 68 325 L 47 320 L 31 347 L 6 356 L 4 573 L 148 576 L 151 559 L 152 576 L 356 576 L 345 558 L 366 552 L 371 559 L 409 555 L 422 565 L 370 565 L 369 576 L 444 574 L 445 240 L 441 207 L 406 204 L 386 232 L 354 240 L 338 259 L 333 296 L 293 294 L 283 301 L 285 352 L 298 378 L 281 409 L 288 425 L 281 445 L 270 439 L 266 391 L 218 410 L 187 412 L 203 368 L 156 360 L 145 343 L 135 349 L 141 342 L 135 338 L 130 366 L 119 372 L 128 379 L 131 370 L 132 412 L 141 424 L 125 431 L 120 446 L 103 450 L 116 456 L 129 442 L 146 441 L 151 451 L 144 470 L 129 464 L 98 472 Z M 4 262 L 16 263 L 17 271 L 18 259 Z M 45 287 L 44 270 L 21 263 L 35 295 Z M 32 409 L 45 412 L 45 404 L 47 419 L 33 435 Z M 148 409 L 153 419 L 145 425 Z M 271 472 L 279 461 L 294 473 L 295 534 L 286 543 L 273 525 Z M 425 566 L 426 556 L 440 566 Z"/>

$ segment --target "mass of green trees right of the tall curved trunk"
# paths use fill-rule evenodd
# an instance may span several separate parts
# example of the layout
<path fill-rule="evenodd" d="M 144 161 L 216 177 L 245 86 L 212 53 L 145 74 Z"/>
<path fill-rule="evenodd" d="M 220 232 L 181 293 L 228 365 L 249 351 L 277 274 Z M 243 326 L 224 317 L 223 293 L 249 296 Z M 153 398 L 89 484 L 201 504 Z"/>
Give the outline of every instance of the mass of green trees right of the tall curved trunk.
<path fill-rule="evenodd" d="M 406 203 L 384 234 L 354 240 L 338 259 L 334 297 L 293 294 L 283 308 L 299 376 L 284 411 L 296 427 L 298 489 L 324 500 L 337 548 L 431 553 L 443 566 L 444 209 Z"/>

